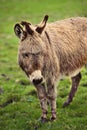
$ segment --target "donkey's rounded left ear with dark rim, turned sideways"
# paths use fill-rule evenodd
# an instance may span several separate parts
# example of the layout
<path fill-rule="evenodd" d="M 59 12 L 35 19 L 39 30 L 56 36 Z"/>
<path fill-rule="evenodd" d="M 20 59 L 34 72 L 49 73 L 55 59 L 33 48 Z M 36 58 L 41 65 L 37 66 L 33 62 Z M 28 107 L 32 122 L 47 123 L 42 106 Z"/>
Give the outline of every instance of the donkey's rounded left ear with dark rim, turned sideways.
<path fill-rule="evenodd" d="M 26 37 L 26 32 L 23 31 L 23 28 L 19 24 L 15 24 L 14 32 L 16 36 L 20 39 L 24 39 Z"/>

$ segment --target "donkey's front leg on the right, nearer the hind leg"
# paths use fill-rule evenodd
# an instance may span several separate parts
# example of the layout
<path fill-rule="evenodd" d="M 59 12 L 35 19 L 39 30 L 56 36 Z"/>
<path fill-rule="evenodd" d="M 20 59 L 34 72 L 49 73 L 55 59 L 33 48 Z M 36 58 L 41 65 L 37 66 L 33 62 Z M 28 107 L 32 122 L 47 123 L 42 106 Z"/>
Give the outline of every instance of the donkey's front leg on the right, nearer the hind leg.
<path fill-rule="evenodd" d="M 57 97 L 57 91 L 56 87 L 54 85 L 47 86 L 47 97 L 50 103 L 51 107 L 51 120 L 56 119 L 56 97 Z"/>

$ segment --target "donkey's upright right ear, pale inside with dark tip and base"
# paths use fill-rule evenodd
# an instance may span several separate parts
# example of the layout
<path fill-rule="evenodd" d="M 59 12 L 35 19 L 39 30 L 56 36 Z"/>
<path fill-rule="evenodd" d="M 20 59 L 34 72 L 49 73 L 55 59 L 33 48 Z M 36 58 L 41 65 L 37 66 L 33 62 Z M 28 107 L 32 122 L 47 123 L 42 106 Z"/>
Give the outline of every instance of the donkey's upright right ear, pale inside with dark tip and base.
<path fill-rule="evenodd" d="M 45 28 L 45 26 L 46 26 L 46 23 L 47 23 L 47 20 L 48 20 L 48 15 L 45 15 L 44 16 L 44 19 L 42 20 L 42 22 L 37 26 L 37 28 L 36 28 L 36 31 L 38 32 L 38 33 L 42 33 L 43 32 L 43 30 L 44 30 L 44 28 Z"/>

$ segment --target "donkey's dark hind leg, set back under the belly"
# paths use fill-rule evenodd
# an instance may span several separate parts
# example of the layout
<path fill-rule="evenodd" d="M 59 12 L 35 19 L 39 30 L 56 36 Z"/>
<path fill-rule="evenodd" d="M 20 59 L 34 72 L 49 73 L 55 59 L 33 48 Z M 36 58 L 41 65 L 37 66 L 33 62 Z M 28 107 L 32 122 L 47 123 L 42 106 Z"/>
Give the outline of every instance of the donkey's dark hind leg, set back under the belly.
<path fill-rule="evenodd" d="M 81 80 L 81 73 L 78 73 L 75 77 L 72 77 L 71 79 L 72 79 L 71 91 L 69 93 L 68 100 L 64 103 L 63 107 L 68 106 L 73 101 L 73 97 L 77 91 L 79 82 Z"/>

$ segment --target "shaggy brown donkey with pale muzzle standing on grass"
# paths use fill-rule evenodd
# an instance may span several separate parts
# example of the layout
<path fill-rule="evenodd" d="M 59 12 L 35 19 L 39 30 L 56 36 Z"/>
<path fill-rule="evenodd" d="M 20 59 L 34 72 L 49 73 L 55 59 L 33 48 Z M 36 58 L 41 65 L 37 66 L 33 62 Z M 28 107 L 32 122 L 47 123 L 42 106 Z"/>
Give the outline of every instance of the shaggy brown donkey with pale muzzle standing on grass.
<path fill-rule="evenodd" d="M 14 32 L 20 39 L 19 66 L 37 89 L 42 108 L 41 120 L 47 120 L 47 102 L 51 120 L 56 119 L 57 82 L 69 76 L 72 87 L 64 107 L 68 106 L 81 80 L 81 68 L 87 63 L 87 19 L 68 18 L 47 23 L 46 15 L 40 24 L 17 23 Z"/>

